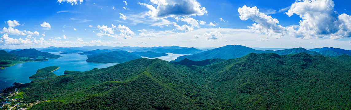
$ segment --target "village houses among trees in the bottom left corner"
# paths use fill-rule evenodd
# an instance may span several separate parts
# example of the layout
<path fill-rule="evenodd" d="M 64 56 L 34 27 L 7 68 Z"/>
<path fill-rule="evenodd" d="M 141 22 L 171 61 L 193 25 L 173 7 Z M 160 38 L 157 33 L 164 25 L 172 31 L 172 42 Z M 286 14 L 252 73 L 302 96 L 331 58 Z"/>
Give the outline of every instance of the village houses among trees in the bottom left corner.
<path fill-rule="evenodd" d="M 33 105 L 40 103 L 40 101 L 24 103 L 22 100 L 23 92 L 17 89 L 14 92 L 0 93 L 0 110 L 27 110 Z"/>

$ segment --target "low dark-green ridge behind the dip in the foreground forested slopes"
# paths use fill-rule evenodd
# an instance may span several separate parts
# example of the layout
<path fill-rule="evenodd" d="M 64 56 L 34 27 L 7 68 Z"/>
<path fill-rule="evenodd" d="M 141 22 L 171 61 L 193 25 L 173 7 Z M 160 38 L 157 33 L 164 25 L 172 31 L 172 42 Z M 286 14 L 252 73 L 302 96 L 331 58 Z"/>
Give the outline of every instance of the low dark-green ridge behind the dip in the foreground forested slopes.
<path fill-rule="evenodd" d="M 206 60 L 202 60 L 202 61 L 192 61 L 192 60 L 185 58 L 185 59 L 177 61 L 177 62 L 173 61 L 172 63 L 179 64 L 179 65 L 206 66 L 206 65 L 220 63 L 220 62 L 225 61 L 225 60 L 226 59 L 214 58 L 214 59 L 206 59 Z"/>

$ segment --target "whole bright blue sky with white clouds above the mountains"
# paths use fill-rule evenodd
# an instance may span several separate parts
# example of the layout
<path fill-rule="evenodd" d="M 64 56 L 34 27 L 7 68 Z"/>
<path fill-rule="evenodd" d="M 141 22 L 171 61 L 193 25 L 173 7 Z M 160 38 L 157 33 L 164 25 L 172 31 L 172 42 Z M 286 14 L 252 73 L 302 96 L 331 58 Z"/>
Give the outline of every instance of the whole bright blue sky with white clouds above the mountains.
<path fill-rule="evenodd" d="M 0 48 L 351 50 L 350 0 L 0 0 Z"/>

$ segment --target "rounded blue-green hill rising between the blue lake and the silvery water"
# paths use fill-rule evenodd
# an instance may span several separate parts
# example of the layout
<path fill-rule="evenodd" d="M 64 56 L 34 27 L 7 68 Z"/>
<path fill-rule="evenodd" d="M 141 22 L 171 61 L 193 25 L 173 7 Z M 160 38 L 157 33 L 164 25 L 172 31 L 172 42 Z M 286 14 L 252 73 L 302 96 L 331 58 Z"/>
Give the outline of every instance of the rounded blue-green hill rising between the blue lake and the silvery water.
<path fill-rule="evenodd" d="M 141 58 L 139 55 L 127 51 L 112 51 L 88 55 L 87 62 L 92 63 L 124 63 L 130 60 Z"/>

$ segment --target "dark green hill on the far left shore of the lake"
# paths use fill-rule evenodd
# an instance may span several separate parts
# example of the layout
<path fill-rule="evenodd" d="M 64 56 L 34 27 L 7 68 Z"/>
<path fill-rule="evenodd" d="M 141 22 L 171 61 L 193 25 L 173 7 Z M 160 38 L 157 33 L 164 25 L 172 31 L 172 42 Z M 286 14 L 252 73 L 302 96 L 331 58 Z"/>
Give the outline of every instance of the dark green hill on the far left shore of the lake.
<path fill-rule="evenodd" d="M 9 53 L 15 54 L 16 56 L 19 57 L 28 57 L 28 58 L 60 58 L 62 56 L 51 54 L 48 52 L 41 52 L 35 49 L 23 49 L 21 51 L 11 51 Z"/>

